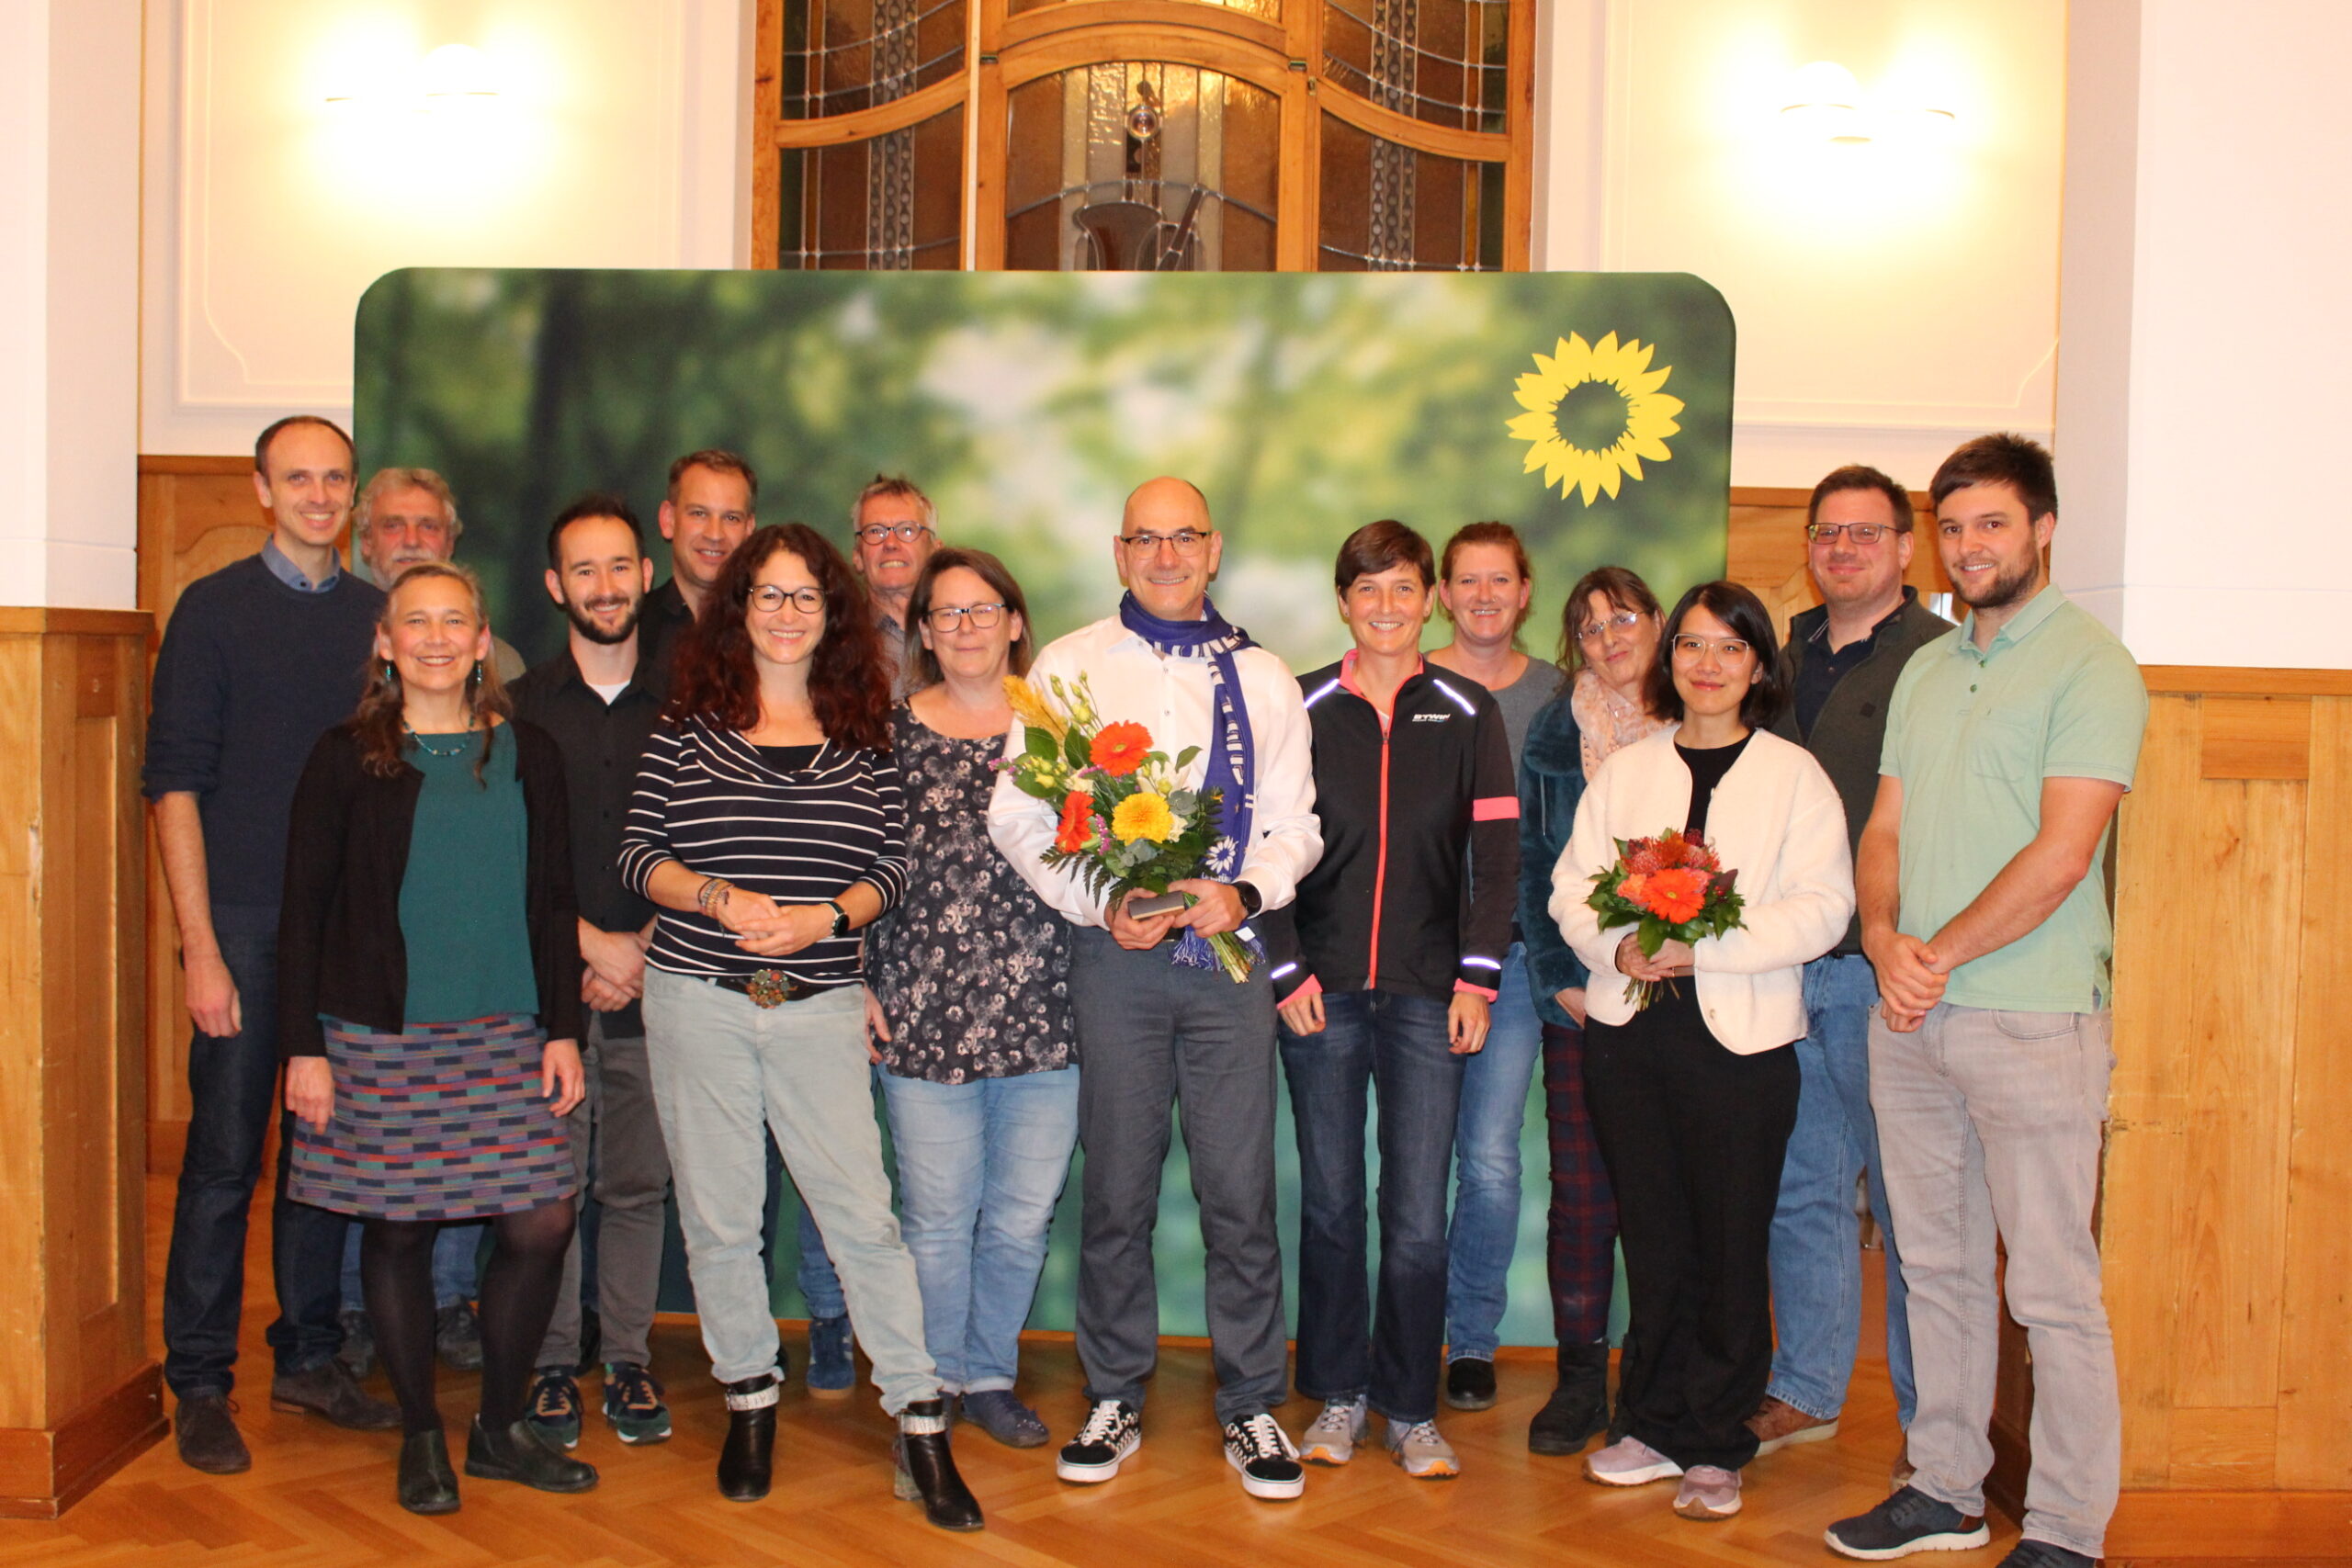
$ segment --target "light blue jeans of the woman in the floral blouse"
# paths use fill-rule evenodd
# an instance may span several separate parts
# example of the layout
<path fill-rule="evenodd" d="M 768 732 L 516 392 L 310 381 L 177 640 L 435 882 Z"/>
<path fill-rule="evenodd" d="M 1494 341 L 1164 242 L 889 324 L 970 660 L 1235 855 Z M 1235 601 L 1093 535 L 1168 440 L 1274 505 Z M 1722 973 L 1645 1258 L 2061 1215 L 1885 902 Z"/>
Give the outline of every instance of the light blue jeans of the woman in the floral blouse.
<path fill-rule="evenodd" d="M 1009 1389 L 1077 1147 L 1077 1067 L 969 1084 L 884 1072 L 882 1098 L 938 1387 Z"/>

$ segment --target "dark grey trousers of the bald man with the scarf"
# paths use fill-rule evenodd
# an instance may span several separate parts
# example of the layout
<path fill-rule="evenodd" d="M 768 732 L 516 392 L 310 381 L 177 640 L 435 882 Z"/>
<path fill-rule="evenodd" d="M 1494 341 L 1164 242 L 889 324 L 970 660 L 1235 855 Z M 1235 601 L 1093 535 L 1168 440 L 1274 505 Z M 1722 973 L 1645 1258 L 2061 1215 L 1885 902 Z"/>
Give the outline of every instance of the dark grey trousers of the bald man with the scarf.
<path fill-rule="evenodd" d="M 1077 1356 L 1087 1399 L 1141 1408 L 1160 1354 L 1152 1225 L 1174 1105 L 1207 1251 L 1216 1418 L 1270 1410 L 1289 1392 L 1289 1345 L 1275 1234 L 1275 999 L 1265 971 L 1235 985 L 1223 971 L 1178 969 L 1167 947 L 1129 952 L 1108 931 L 1087 929 L 1073 943 L 1070 1001 L 1084 1060 Z"/>

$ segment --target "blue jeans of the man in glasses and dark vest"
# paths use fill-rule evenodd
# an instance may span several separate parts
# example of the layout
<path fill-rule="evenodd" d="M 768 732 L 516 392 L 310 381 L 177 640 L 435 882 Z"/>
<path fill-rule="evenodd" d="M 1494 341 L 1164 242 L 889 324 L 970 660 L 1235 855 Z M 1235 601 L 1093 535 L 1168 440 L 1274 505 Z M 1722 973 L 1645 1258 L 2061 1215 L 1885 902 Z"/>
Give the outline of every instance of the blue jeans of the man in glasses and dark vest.
<path fill-rule="evenodd" d="M 1896 1385 L 1896 1420 L 1910 1427 L 1915 1392 L 1903 1258 L 1886 1218 L 1879 1126 L 1870 1114 L 1870 1011 L 1877 1004 L 1870 959 L 1832 954 L 1804 966 L 1811 1032 L 1792 1046 L 1802 1093 L 1797 1131 L 1780 1166 L 1780 1204 L 1771 1218 L 1778 1349 L 1769 1394 L 1816 1420 L 1835 1420 L 1846 1403 L 1863 1331 L 1863 1222 L 1853 1213 L 1853 1182 L 1867 1171 L 1870 1213 L 1886 1244 L 1886 1375 Z"/>

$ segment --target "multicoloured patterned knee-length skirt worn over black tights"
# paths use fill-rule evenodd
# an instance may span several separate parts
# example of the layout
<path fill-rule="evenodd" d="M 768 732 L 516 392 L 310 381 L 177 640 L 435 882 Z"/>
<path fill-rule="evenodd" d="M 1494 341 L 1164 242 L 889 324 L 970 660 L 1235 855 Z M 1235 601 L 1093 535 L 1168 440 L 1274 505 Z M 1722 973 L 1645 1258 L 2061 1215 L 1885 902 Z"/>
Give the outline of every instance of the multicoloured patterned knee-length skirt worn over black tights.
<path fill-rule="evenodd" d="M 325 1025 L 334 1119 L 294 1124 L 294 1201 L 367 1220 L 480 1220 L 572 1197 L 572 1140 L 539 1093 L 548 1034 L 536 1018 Z"/>

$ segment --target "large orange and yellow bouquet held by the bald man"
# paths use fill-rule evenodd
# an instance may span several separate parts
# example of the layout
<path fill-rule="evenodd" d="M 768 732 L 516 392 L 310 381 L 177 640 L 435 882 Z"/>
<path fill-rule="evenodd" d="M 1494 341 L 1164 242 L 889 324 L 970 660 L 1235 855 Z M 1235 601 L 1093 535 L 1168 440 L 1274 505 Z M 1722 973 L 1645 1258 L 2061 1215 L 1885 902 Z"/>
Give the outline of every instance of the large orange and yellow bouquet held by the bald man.
<path fill-rule="evenodd" d="M 1171 762 L 1152 750 L 1145 726 L 1105 724 L 1084 675 L 1075 684 L 1056 675 L 1049 686 L 1051 696 L 1018 675 L 1004 677 L 1004 696 L 1028 736 L 1018 757 L 995 764 L 1023 795 L 1061 813 L 1044 863 L 1077 872 L 1103 903 L 1129 889 L 1167 893 L 1171 882 L 1200 877 L 1218 844 L 1223 806 L 1216 790 L 1176 783 L 1200 748 L 1188 745 Z M 1254 957 L 1235 933 L 1207 943 L 1232 980 L 1249 978 Z"/>

